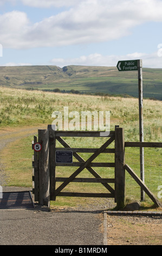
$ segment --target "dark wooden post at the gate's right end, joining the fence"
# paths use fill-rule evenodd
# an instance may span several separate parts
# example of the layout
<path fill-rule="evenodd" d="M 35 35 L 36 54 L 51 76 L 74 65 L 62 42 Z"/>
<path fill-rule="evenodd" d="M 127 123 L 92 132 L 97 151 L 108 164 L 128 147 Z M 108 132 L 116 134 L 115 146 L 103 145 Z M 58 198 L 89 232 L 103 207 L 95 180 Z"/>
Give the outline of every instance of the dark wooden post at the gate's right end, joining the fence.
<path fill-rule="evenodd" d="M 116 209 L 125 206 L 125 141 L 124 129 L 115 127 L 115 202 Z"/>

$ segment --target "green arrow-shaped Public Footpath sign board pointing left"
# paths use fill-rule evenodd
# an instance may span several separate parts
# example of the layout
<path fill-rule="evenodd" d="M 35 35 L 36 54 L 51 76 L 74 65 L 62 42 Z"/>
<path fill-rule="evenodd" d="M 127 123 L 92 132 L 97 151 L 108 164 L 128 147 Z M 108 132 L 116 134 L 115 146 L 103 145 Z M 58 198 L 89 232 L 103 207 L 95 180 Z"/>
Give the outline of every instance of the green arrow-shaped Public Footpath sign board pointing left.
<path fill-rule="evenodd" d="M 138 70 L 138 60 L 119 60 L 117 68 L 119 71 L 135 71 Z"/>

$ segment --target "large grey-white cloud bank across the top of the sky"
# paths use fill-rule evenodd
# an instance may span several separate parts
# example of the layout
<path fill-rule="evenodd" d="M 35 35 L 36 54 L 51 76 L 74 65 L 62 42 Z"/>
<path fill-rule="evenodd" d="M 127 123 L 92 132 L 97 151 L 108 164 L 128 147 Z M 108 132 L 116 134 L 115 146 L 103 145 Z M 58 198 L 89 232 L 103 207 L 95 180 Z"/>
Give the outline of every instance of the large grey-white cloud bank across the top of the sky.
<path fill-rule="evenodd" d="M 160 0 L 21 1 L 39 7 L 45 2 L 49 7 L 52 3 L 75 2 L 75 5 L 34 24 L 21 11 L 0 15 L 3 47 L 52 47 L 110 41 L 128 35 L 141 23 L 162 21 Z"/>

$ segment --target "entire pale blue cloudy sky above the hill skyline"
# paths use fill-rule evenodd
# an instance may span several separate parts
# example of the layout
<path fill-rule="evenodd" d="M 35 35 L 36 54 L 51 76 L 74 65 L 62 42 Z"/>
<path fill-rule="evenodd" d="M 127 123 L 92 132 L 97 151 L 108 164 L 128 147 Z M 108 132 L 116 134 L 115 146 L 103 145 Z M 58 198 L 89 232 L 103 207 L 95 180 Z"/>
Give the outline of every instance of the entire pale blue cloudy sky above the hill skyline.
<path fill-rule="evenodd" d="M 162 0 L 0 0 L 0 66 L 162 68 Z"/>

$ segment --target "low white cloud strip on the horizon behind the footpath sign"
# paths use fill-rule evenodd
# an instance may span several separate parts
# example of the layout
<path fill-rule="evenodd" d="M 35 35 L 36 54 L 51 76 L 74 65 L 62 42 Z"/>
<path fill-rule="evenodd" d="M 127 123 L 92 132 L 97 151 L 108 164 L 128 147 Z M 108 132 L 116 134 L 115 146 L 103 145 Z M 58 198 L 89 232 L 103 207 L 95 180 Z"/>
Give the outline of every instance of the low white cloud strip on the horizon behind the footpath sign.
<path fill-rule="evenodd" d="M 157 52 L 146 54 L 134 52 L 126 55 L 103 56 L 99 53 L 80 56 L 78 58 L 54 58 L 51 60 L 52 65 L 83 65 L 83 66 L 116 66 L 119 60 L 142 59 L 144 68 L 162 68 L 162 57 L 158 57 Z"/>

